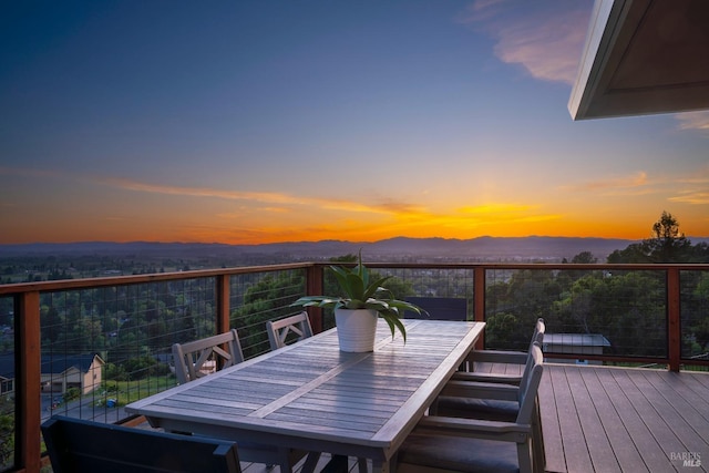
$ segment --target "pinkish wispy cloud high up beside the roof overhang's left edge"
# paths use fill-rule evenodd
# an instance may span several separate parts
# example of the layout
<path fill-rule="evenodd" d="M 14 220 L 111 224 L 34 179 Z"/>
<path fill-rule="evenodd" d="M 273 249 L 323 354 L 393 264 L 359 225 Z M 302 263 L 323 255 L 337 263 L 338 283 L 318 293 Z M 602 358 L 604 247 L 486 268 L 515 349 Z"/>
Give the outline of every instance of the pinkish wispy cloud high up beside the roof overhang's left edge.
<path fill-rule="evenodd" d="M 473 2 L 461 21 L 497 41 L 495 55 L 522 65 L 533 78 L 573 84 L 588 29 L 592 4 L 548 2 L 548 9 L 527 12 L 520 3 Z"/>

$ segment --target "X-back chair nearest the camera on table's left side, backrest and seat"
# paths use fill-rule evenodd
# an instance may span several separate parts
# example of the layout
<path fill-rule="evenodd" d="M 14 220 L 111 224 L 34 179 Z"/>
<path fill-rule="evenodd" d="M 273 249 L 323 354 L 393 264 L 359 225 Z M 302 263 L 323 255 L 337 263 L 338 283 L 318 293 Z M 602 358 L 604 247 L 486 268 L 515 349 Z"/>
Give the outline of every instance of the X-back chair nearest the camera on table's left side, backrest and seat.
<path fill-rule="evenodd" d="M 175 374 L 179 383 L 194 381 L 214 371 L 244 361 L 238 332 L 228 332 L 207 337 L 187 343 L 173 345 Z M 281 473 L 291 473 L 292 466 L 308 455 L 307 465 L 317 463 L 319 452 L 284 449 L 278 445 L 265 445 L 253 442 L 239 442 L 239 452 L 244 461 L 265 463 L 267 466 L 278 464 Z"/>

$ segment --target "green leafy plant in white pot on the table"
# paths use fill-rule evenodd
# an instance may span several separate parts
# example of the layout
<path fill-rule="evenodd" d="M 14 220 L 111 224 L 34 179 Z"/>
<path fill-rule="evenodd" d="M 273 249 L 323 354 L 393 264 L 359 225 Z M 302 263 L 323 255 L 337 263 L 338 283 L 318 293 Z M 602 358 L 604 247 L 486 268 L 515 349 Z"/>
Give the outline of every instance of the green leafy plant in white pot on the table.
<path fill-rule="evenodd" d="M 378 317 L 387 321 L 392 337 L 398 329 L 407 341 L 407 329 L 400 320 L 404 310 L 417 313 L 425 311 L 411 302 L 395 299 L 389 289 L 382 287 L 391 276 L 371 277 L 362 264 L 361 250 L 353 268 L 330 266 L 330 270 L 342 296 L 306 296 L 292 305 L 335 309 L 340 350 L 372 351 Z"/>

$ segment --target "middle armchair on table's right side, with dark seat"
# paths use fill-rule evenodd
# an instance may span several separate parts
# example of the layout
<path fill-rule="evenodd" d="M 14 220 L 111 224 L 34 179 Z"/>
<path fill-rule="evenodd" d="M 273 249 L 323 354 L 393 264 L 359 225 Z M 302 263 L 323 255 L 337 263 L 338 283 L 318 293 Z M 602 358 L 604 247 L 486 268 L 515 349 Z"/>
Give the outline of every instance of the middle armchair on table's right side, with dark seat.
<path fill-rule="evenodd" d="M 453 379 L 443 387 L 431 412 L 441 417 L 515 422 L 525 400 L 532 401 L 532 445 L 538 462 L 537 469 L 543 469 L 545 453 L 538 394 L 535 393 L 533 399 L 525 398 L 528 395 L 526 390 L 537 362 L 537 350 L 542 352 L 542 346 L 535 341 L 530 347 L 528 362 L 525 364 L 518 384 Z"/>

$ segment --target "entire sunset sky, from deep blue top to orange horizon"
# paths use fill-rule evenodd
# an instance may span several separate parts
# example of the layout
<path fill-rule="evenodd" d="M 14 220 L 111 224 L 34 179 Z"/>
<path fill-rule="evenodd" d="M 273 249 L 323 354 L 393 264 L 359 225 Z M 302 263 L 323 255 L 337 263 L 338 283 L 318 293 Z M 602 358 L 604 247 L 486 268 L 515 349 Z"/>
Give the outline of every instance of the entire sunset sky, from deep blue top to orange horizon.
<path fill-rule="evenodd" d="M 0 244 L 709 236 L 709 113 L 574 122 L 592 0 L 7 1 Z"/>

